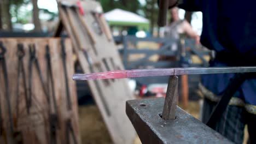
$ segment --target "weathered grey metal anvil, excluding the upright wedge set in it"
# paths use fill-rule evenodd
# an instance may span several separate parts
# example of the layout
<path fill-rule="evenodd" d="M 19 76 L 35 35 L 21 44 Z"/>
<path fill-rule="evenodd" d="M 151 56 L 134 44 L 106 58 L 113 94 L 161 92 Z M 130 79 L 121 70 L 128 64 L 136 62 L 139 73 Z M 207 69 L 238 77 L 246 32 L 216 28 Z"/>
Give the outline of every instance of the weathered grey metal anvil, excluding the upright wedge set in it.
<path fill-rule="evenodd" d="M 232 143 L 177 106 L 176 119 L 161 115 L 164 98 L 126 101 L 126 114 L 142 143 Z"/>

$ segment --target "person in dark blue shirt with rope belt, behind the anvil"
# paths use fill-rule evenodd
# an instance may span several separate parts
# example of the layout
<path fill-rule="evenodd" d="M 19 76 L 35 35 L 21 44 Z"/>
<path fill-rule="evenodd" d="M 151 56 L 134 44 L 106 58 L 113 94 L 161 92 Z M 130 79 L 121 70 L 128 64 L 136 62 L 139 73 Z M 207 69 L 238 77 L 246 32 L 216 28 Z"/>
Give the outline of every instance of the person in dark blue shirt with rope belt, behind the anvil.
<path fill-rule="evenodd" d="M 211 67 L 254 66 L 256 64 L 256 1 L 168 0 L 170 8 L 201 11 L 203 27 L 200 42 L 216 51 Z M 235 74 L 202 75 L 200 88 L 205 95 L 202 121 Z M 235 143 L 243 142 L 248 125 L 249 142 L 256 143 L 256 78 L 242 83 L 214 129 Z"/>

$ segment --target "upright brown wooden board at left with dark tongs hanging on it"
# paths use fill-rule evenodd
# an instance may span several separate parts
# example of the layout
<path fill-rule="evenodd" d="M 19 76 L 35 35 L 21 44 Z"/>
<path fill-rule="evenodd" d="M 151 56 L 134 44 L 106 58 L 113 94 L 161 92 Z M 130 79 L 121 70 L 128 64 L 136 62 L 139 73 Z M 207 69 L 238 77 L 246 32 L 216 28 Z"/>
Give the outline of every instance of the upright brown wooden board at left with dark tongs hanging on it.
<path fill-rule="evenodd" d="M 77 93 L 72 81 L 74 61 L 71 40 L 1 38 L 0 43 L 5 48 L 8 74 L 4 76 L 0 68 L 0 143 L 80 143 Z M 65 79 L 63 49 L 69 81 Z M 19 64 L 20 58 L 23 65 Z M 43 83 L 35 59 L 32 63 L 31 58 L 37 59 Z M 5 84 L 4 80 L 8 83 Z M 67 87 L 70 101 L 67 99 Z M 68 103 L 71 103 L 71 109 L 67 108 Z"/>

